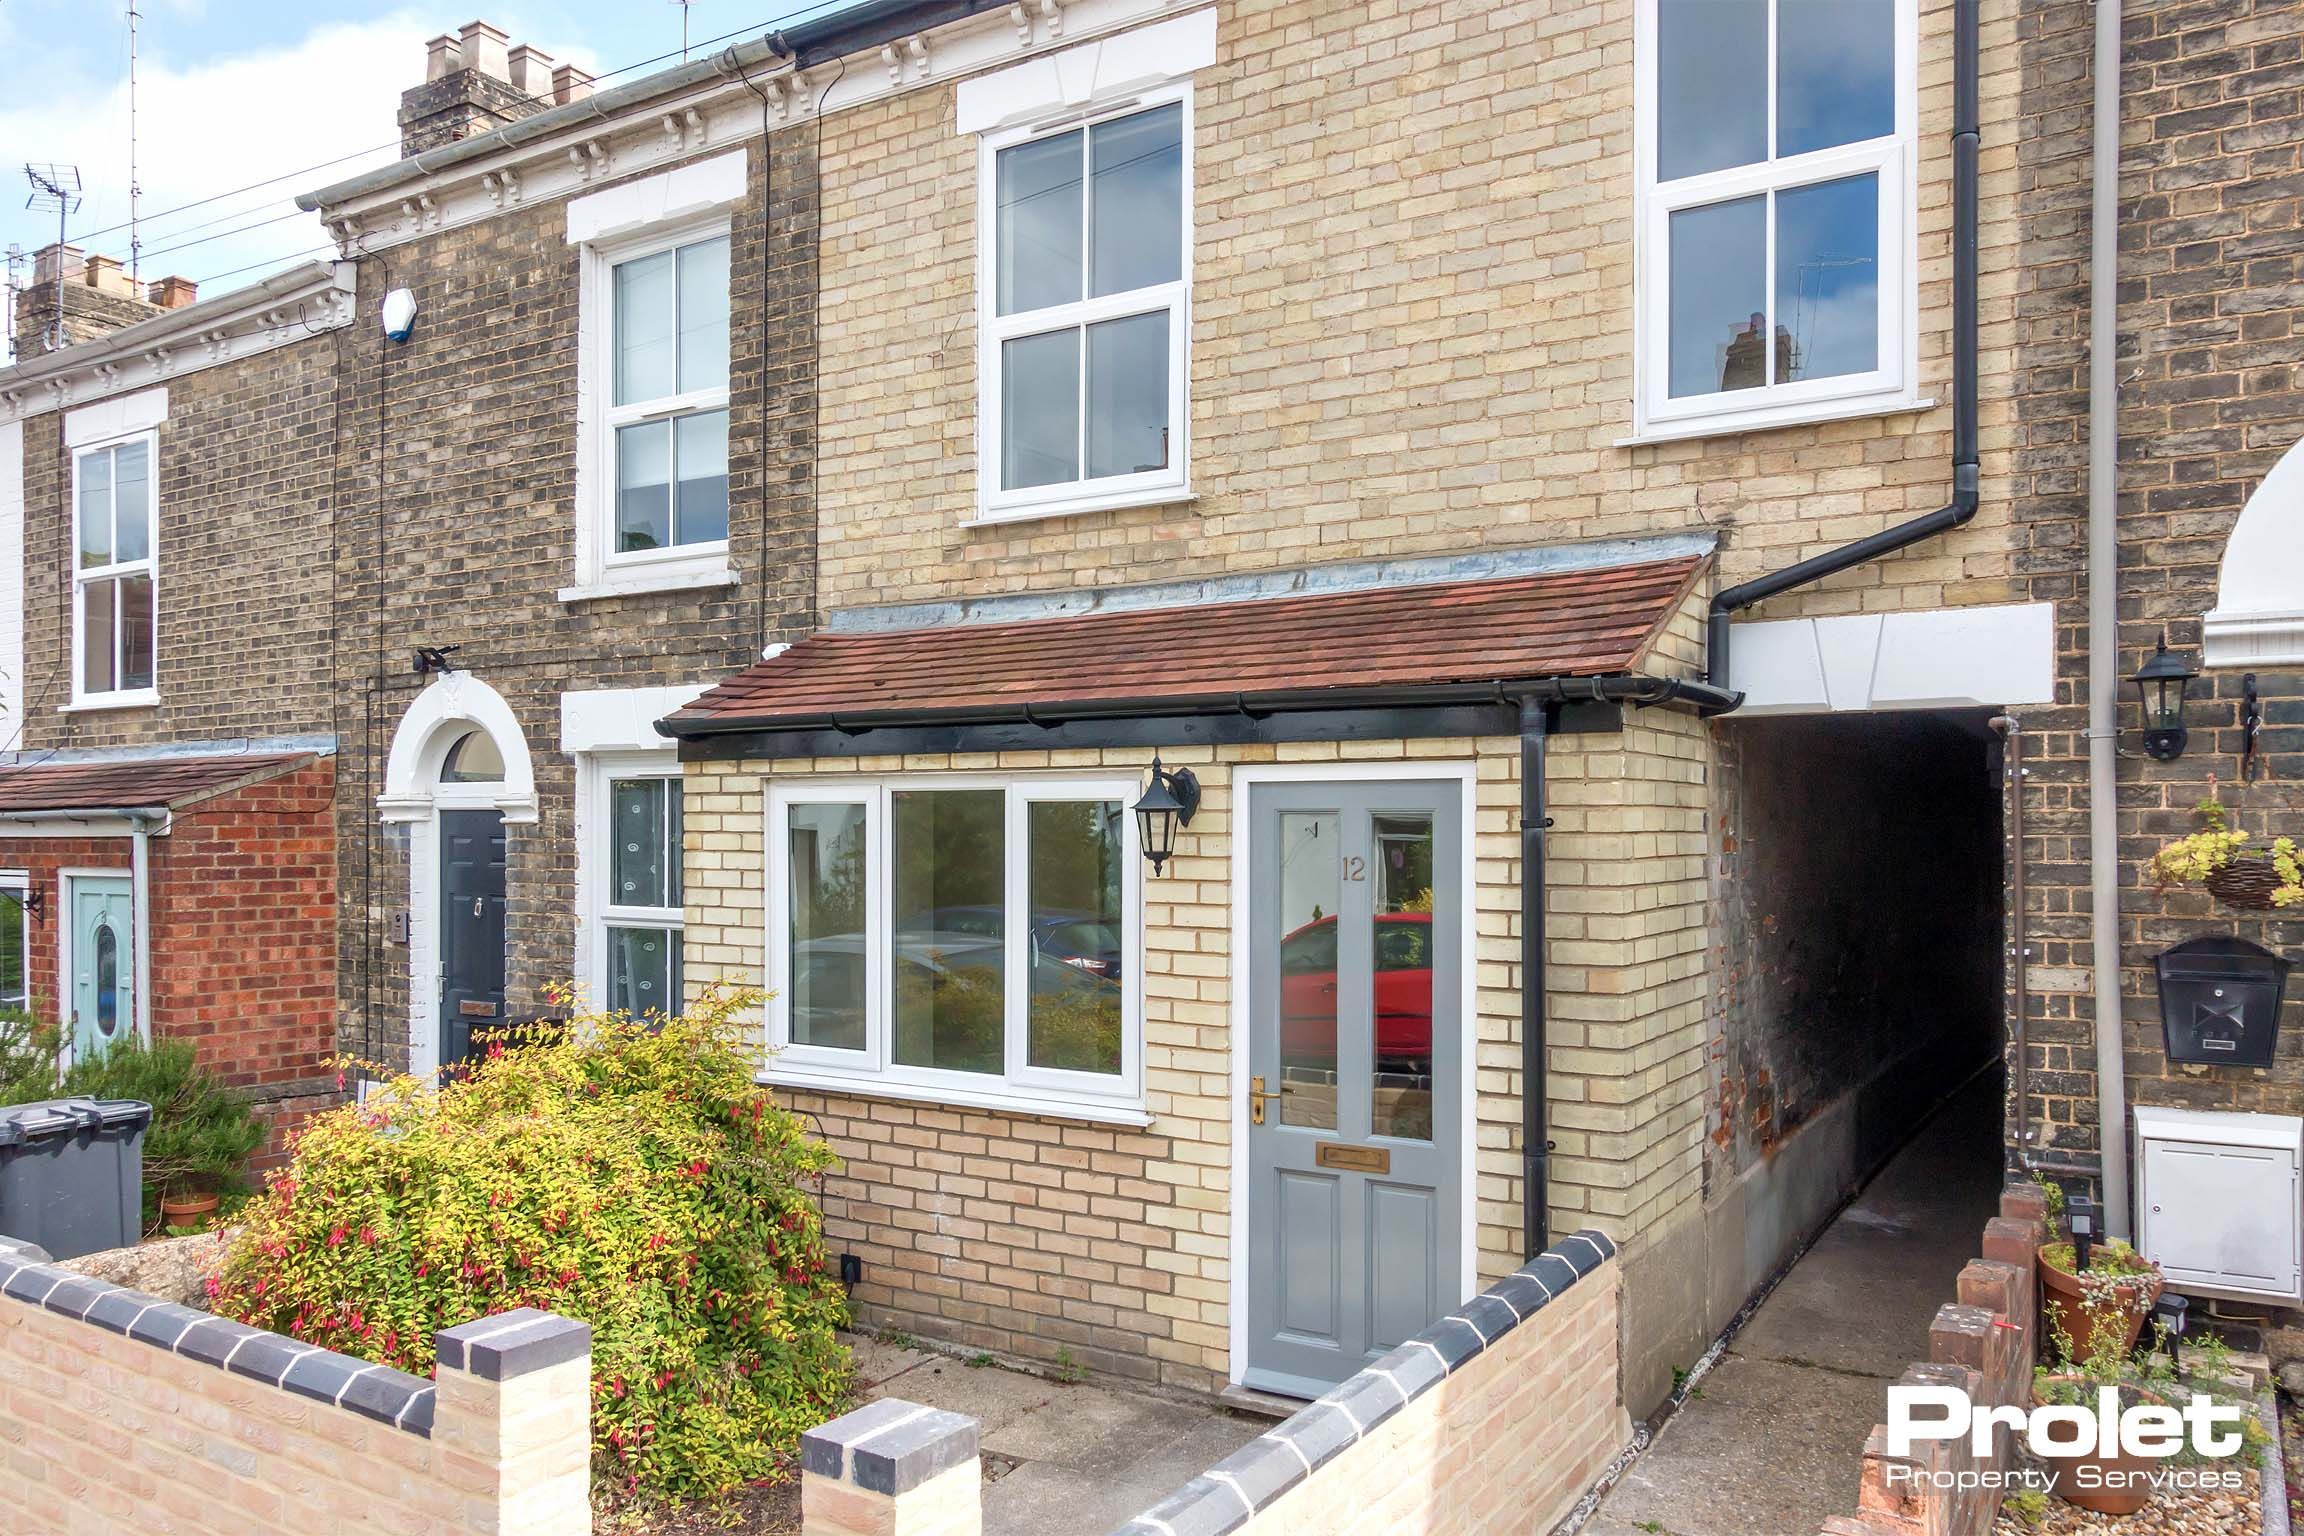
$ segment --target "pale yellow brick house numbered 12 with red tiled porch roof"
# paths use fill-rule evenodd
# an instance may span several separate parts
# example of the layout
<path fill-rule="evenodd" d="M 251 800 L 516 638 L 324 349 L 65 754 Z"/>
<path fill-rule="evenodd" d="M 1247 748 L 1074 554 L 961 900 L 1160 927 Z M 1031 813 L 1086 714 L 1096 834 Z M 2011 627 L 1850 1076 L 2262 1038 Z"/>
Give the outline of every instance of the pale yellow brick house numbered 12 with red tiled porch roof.
<path fill-rule="evenodd" d="M 2004 1052 L 2016 12 L 848 16 L 703 88 L 816 619 L 664 730 L 862 1313 L 1304 1396 L 1601 1227 L 1645 1414 Z"/>

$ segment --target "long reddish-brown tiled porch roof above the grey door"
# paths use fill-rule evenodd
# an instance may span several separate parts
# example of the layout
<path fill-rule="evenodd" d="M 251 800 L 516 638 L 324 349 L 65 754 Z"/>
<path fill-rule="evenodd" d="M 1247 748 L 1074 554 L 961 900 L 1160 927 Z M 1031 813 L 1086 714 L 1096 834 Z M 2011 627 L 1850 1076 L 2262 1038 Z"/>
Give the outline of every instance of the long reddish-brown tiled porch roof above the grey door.
<path fill-rule="evenodd" d="M 698 728 L 933 718 L 1016 705 L 1233 700 L 1274 693 L 1631 672 L 1700 557 L 1445 585 L 1131 613 L 816 633 L 668 716 Z"/>

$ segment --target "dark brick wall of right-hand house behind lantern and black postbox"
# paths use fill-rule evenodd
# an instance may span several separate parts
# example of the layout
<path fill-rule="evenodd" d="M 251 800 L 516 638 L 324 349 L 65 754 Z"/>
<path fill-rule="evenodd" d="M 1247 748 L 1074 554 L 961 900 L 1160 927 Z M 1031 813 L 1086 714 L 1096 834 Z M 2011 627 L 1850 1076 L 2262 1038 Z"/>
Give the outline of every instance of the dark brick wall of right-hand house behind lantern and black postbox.
<path fill-rule="evenodd" d="M 2018 567 L 2057 603 L 2057 705 L 2025 714 L 2032 1098 L 2046 1168 L 2092 1177 L 2122 1135 L 2097 1121 L 2085 762 L 2087 99 L 2092 7 L 2023 7 L 2018 274 Z M 2304 9 L 2274 0 L 2131 0 L 2124 9 L 2120 175 L 2120 672 L 2166 636 L 2198 656 L 2242 502 L 2304 433 Z M 2239 933 L 2295 958 L 2286 919 L 2237 917 L 2198 891 L 2157 894 L 2143 864 L 2196 827 L 2210 776 L 2251 829 L 2295 829 L 2304 797 L 2304 675 L 2256 672 L 2263 776 L 2239 783 L 2242 670 L 2193 684 L 2191 748 L 2150 762 L 2134 689 L 2120 712 L 2120 928 L 2134 1103 L 2304 1112 L 2304 1013 L 2290 997 L 2269 1071 L 2170 1066 L 2152 956 Z"/>

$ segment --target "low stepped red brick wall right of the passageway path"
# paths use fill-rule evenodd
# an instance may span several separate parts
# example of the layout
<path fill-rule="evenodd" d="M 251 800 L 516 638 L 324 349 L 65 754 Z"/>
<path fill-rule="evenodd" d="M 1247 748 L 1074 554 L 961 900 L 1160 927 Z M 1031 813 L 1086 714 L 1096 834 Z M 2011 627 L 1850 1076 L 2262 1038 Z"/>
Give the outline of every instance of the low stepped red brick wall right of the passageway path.
<path fill-rule="evenodd" d="M 2000 1193 L 2000 1214 L 1984 1223 L 1981 1257 L 1968 1262 L 1958 1301 L 1947 1301 L 1928 1324 L 1928 1359 L 1912 1363 L 1901 1384 L 1949 1384 L 1972 1400 L 2030 1407 L 2032 1363 L 2039 1359 L 2039 1246 L 2046 1241 L 2048 1202 L 2037 1184 Z M 1931 1439 L 1912 1455 L 1887 1453 L 1887 1425 L 1864 1442 L 1857 1513 L 1825 1522 L 1825 1536 L 1984 1536 L 2000 1513 L 2000 1492 L 1977 1488 L 1972 1472 L 2007 1472 L 2016 1460 L 2011 1430 L 2000 1430 L 1993 1453 L 1979 1458 L 1965 1439 Z M 1963 1488 L 1935 1488 L 1956 1474 Z"/>

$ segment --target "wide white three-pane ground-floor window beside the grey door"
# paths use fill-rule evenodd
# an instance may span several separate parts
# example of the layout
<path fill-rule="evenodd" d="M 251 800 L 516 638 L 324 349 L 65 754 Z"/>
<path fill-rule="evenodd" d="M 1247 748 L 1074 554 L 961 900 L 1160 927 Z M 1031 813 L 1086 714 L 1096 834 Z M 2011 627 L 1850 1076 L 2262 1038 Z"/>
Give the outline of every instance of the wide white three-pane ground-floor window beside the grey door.
<path fill-rule="evenodd" d="M 770 1078 L 1143 1119 L 1134 781 L 770 788 Z"/>

